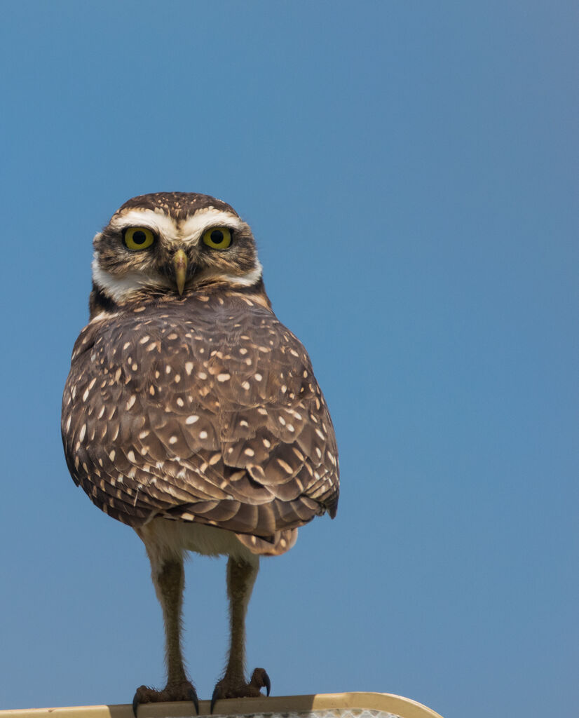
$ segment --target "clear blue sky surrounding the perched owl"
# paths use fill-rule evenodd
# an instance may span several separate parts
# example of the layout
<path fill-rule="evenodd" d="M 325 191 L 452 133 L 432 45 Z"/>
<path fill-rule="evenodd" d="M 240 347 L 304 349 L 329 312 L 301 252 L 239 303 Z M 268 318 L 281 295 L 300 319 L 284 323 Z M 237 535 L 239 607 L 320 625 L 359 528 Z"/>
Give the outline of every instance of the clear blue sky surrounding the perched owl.
<path fill-rule="evenodd" d="M 75 488 L 60 398 L 91 241 L 161 190 L 253 226 L 342 462 L 335 521 L 262 561 L 248 666 L 445 718 L 570 714 L 578 668 L 573 1 L 6 3 L 0 708 L 164 681 L 136 534 Z M 225 560 L 187 567 L 208 698 Z"/>

